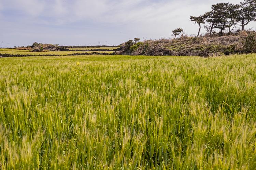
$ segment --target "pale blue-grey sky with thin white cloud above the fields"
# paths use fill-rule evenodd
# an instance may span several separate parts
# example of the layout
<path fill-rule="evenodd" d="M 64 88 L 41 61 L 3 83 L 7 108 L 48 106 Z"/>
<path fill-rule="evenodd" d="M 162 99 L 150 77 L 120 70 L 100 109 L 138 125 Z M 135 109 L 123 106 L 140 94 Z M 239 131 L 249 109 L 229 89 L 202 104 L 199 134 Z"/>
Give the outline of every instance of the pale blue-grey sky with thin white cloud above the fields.
<path fill-rule="evenodd" d="M 241 0 L 0 0 L 0 47 L 33 42 L 59 45 L 119 45 L 170 38 L 182 28 L 196 35 L 189 20 L 219 2 Z M 246 29 L 256 30 L 256 22 Z"/>

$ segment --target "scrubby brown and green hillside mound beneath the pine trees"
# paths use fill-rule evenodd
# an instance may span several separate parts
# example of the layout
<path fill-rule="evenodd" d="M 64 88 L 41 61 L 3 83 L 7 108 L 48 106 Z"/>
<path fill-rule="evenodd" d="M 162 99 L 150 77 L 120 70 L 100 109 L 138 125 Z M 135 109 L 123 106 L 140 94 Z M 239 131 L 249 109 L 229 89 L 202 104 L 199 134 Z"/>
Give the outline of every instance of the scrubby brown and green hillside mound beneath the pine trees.
<path fill-rule="evenodd" d="M 131 41 L 131 40 L 130 40 Z M 130 55 L 173 55 L 173 56 L 214 56 L 256 51 L 254 31 L 241 31 L 226 36 L 181 36 L 176 39 L 126 42 L 117 54 Z"/>

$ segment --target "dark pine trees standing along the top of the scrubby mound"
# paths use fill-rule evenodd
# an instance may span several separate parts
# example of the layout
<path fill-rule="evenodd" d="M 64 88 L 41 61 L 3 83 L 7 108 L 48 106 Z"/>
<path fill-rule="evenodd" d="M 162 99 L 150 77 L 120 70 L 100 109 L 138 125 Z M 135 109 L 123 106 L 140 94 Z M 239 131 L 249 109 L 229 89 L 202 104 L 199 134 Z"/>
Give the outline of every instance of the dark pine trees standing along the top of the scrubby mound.
<path fill-rule="evenodd" d="M 211 11 L 197 17 L 190 16 L 190 20 L 199 25 L 197 37 L 200 35 L 201 24 L 206 24 L 204 28 L 209 35 L 214 29 L 219 30 L 220 36 L 226 29 L 232 33 L 236 26 L 239 26 L 238 30 L 243 31 L 246 25 L 256 21 L 256 0 L 244 0 L 240 4 L 217 3 L 212 5 Z M 173 35 L 177 35 L 177 31 L 181 30 L 174 30 Z"/>

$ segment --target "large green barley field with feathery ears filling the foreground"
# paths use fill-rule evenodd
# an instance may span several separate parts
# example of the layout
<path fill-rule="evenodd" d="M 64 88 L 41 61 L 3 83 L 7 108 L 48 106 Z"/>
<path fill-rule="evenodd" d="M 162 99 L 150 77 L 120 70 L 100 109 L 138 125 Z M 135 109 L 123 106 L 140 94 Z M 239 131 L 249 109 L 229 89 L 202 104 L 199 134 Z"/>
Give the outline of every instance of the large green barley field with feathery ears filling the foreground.
<path fill-rule="evenodd" d="M 256 169 L 256 55 L 0 58 L 0 169 Z"/>

